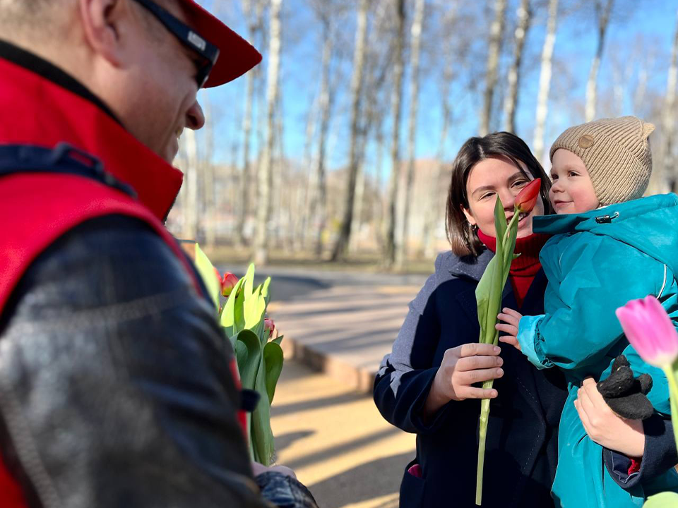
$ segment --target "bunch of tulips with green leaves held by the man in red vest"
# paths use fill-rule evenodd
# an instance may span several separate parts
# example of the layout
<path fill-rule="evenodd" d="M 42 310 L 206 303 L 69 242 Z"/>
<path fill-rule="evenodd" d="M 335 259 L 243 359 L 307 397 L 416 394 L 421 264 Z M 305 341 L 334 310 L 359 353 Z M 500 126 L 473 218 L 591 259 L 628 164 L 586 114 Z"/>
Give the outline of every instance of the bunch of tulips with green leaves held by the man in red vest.
<path fill-rule="evenodd" d="M 196 267 L 219 309 L 220 323 L 235 352 L 242 387 L 256 391 L 259 396 L 256 409 L 247 414 L 251 459 L 269 466 L 275 452 L 270 404 L 283 370 L 280 348 L 283 336 L 273 337 L 275 324 L 266 317 L 270 277 L 255 287 L 254 265 L 249 265 L 242 279 L 232 273 L 222 277 L 197 243 L 195 249 Z M 226 298 L 223 306 L 222 296 Z"/>

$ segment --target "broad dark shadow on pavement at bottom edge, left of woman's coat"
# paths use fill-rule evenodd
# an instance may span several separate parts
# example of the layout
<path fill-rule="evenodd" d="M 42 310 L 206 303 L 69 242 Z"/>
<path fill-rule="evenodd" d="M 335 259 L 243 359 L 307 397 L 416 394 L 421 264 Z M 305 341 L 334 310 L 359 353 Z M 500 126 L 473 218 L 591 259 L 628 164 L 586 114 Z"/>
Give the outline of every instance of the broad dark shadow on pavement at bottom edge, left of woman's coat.
<path fill-rule="evenodd" d="M 359 464 L 332 478 L 309 485 L 323 508 L 340 508 L 347 504 L 368 501 L 400 490 L 400 480 L 415 452 L 392 455 Z M 388 501 L 382 507 L 398 507 Z"/>

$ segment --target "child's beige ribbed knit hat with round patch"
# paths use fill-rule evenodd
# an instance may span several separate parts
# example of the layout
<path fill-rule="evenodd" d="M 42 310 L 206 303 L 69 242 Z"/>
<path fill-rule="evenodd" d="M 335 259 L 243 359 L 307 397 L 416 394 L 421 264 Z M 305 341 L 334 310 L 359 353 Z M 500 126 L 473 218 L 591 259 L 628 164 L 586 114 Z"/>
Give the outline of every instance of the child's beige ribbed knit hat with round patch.
<path fill-rule="evenodd" d="M 640 198 L 652 173 L 648 136 L 655 130 L 636 116 L 600 119 L 570 127 L 553 143 L 578 155 L 588 170 L 601 205 Z"/>

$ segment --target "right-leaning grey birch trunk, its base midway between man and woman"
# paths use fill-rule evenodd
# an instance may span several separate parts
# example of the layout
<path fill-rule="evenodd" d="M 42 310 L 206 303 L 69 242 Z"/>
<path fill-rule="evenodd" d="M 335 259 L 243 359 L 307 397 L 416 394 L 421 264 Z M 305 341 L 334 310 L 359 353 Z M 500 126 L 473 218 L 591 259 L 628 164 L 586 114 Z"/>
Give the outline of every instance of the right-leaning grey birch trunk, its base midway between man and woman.
<path fill-rule="evenodd" d="M 369 0 L 360 0 L 358 6 L 357 30 L 355 35 L 355 51 L 353 52 L 353 75 L 351 78 L 351 126 L 349 145 L 349 167 L 346 182 L 346 197 L 344 202 L 344 217 L 342 219 L 339 238 L 335 243 L 332 260 L 337 261 L 345 258 L 351 236 L 351 224 L 353 222 L 353 206 L 355 201 L 355 184 L 357 180 L 360 145 L 359 115 L 360 99 L 362 97 L 362 84 L 365 67 L 367 40 L 367 11 Z"/>

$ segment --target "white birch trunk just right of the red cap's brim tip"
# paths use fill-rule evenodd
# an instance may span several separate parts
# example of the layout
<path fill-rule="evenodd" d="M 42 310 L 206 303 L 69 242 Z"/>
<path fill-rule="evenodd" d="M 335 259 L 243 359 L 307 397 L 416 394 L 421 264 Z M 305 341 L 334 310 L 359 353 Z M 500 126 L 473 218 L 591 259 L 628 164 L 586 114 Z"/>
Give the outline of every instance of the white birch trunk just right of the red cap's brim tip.
<path fill-rule="evenodd" d="M 275 148 L 275 111 L 278 102 L 278 74 L 280 71 L 280 11 L 283 0 L 270 0 L 270 46 L 268 48 L 268 90 L 266 93 L 268 126 L 263 164 L 258 171 L 258 200 L 256 210 L 256 237 L 254 262 L 268 262 L 268 221 L 271 211 L 273 183 L 273 150 Z"/>

